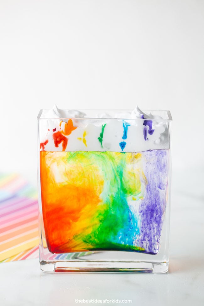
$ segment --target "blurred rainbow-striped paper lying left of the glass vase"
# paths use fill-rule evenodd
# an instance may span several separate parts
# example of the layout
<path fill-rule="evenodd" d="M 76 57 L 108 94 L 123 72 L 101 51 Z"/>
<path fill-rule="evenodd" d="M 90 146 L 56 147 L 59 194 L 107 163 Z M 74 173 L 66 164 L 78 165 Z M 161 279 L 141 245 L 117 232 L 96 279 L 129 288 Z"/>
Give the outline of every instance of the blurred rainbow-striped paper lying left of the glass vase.
<path fill-rule="evenodd" d="M 19 174 L 0 174 L 0 262 L 37 257 L 37 193 Z"/>

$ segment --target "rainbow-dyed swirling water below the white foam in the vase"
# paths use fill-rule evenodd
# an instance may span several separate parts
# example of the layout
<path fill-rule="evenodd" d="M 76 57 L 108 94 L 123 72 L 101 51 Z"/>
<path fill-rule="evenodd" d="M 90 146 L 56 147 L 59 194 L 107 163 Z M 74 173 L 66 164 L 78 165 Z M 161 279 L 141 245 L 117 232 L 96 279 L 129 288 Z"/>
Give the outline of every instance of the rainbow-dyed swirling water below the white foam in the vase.
<path fill-rule="evenodd" d="M 169 150 L 40 152 L 42 212 L 52 253 L 157 254 Z"/>

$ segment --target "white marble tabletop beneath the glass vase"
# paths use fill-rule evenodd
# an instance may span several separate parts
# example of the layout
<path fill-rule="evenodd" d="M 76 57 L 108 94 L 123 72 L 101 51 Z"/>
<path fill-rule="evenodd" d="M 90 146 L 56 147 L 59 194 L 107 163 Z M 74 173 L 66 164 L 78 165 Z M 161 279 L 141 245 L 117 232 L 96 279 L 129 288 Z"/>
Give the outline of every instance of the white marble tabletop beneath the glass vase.
<path fill-rule="evenodd" d="M 173 174 L 168 273 L 46 274 L 40 271 L 38 260 L 2 263 L 0 305 L 80 304 L 75 299 L 131 299 L 132 305 L 152 306 L 204 305 L 203 173 L 192 169 Z M 115 304 L 119 305 L 103 303 Z"/>

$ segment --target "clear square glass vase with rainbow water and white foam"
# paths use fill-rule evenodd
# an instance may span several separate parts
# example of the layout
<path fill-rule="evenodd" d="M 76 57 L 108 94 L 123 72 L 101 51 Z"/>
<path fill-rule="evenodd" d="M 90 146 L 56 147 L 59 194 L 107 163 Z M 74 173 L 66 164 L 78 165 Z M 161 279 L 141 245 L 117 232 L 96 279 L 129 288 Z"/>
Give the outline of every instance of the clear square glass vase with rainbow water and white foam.
<path fill-rule="evenodd" d="M 41 270 L 167 272 L 170 112 L 83 112 L 38 115 Z"/>

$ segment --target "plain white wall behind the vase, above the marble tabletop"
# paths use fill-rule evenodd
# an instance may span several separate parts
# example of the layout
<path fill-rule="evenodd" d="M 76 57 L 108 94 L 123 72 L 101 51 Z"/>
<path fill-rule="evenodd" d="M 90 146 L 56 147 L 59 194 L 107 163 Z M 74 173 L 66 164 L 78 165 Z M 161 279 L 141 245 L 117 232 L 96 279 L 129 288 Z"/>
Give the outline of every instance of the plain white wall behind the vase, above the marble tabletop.
<path fill-rule="evenodd" d="M 1 0 L 1 172 L 37 185 L 41 108 L 168 109 L 173 177 L 203 171 L 204 1 Z"/>

